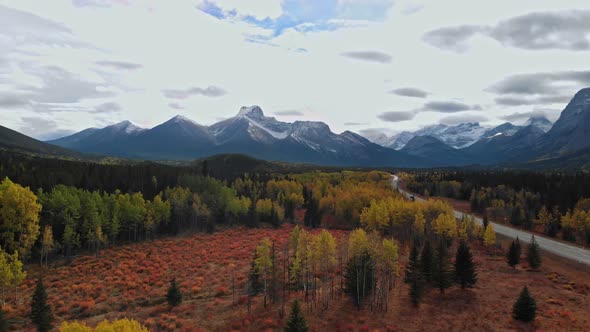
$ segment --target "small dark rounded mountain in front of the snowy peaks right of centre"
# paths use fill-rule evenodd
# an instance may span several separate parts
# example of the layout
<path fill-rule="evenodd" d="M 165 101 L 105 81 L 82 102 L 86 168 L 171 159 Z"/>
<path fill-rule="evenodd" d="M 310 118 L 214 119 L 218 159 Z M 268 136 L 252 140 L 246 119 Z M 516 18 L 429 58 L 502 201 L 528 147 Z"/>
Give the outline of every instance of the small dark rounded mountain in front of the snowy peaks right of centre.
<path fill-rule="evenodd" d="M 400 151 L 428 159 L 437 166 L 458 166 L 471 163 L 469 156 L 463 150 L 450 147 L 432 136 L 416 136 Z"/>

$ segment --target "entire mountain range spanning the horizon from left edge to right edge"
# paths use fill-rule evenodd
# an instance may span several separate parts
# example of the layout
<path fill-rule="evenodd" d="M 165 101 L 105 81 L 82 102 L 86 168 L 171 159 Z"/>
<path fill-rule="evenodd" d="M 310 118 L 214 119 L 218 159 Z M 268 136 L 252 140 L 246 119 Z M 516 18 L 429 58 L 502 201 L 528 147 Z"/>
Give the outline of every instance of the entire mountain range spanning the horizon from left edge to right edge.
<path fill-rule="evenodd" d="M 334 133 L 323 122 L 282 122 L 265 116 L 258 106 L 242 107 L 234 117 L 211 126 L 183 116 L 151 129 L 123 121 L 48 142 L 0 127 L 2 149 L 69 158 L 188 161 L 240 153 L 326 166 L 578 167 L 590 164 L 590 88 L 575 94 L 555 124 L 539 116 L 522 125 L 438 124 L 371 140 L 350 131 Z"/>

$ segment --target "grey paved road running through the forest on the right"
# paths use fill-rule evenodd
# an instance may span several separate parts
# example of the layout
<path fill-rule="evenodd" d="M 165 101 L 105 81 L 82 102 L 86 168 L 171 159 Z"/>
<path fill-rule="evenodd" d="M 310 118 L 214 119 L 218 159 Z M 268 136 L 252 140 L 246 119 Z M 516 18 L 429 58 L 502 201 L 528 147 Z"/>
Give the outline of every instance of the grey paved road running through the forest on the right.
<path fill-rule="evenodd" d="M 412 196 L 411 193 L 400 189 L 398 183 L 399 183 L 399 178 L 397 176 L 393 175 L 392 181 L 391 181 L 393 188 L 398 190 L 402 194 L 406 195 L 408 198 L 410 196 Z M 424 199 L 422 199 L 420 197 L 416 197 L 415 199 L 417 201 L 424 201 Z M 455 211 L 455 217 L 457 217 L 457 219 L 461 219 L 463 217 L 463 215 L 464 215 L 463 212 Z M 479 218 L 475 218 L 475 222 L 479 223 L 480 225 L 483 224 L 483 221 Z M 508 237 L 512 237 L 512 238 L 516 238 L 518 236 L 520 241 L 524 242 L 524 243 L 529 243 L 531 240 L 531 236 L 533 235 L 530 232 L 526 232 L 526 231 L 523 231 L 520 229 L 515 229 L 512 227 L 504 226 L 501 224 L 497 224 L 497 223 L 493 223 L 493 222 L 490 222 L 490 224 L 492 224 L 494 226 L 494 230 L 496 231 L 496 233 L 501 234 L 501 235 L 505 235 Z M 537 243 L 541 247 L 541 250 L 545 250 L 545 251 L 551 252 L 555 255 L 558 255 L 560 257 L 571 259 L 571 260 L 577 261 L 579 263 L 590 266 L 590 250 L 582 249 L 582 248 L 572 246 L 572 245 L 569 245 L 566 243 L 555 241 L 555 240 L 552 240 L 552 239 L 549 239 L 549 238 L 546 238 L 544 236 L 540 236 L 537 234 L 535 234 L 535 239 L 537 240 Z"/>

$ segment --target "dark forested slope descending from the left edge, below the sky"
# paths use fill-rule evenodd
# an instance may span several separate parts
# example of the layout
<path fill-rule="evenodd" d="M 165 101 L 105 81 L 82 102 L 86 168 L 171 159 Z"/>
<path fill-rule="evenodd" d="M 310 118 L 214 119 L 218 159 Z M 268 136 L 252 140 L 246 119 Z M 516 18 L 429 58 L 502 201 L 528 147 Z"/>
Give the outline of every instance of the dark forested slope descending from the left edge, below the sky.
<path fill-rule="evenodd" d="M 12 129 L 0 126 L 0 149 L 40 156 L 86 159 L 82 153 L 38 141 Z"/>

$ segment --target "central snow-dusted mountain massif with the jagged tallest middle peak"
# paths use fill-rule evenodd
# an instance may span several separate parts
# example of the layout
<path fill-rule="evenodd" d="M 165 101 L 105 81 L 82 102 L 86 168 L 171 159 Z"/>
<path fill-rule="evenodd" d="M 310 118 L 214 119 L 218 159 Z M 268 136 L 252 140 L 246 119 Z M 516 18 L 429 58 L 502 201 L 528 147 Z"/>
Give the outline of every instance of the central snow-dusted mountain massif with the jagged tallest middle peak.
<path fill-rule="evenodd" d="M 323 122 L 278 121 L 265 116 L 258 106 L 242 107 L 236 116 L 209 127 L 182 116 L 152 129 L 126 124 L 83 131 L 52 143 L 67 144 L 83 152 L 148 160 L 192 160 L 241 153 L 265 160 L 318 165 L 430 166 L 425 159 L 382 147 L 352 132 L 335 134 Z"/>

